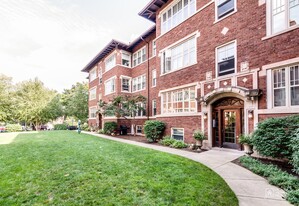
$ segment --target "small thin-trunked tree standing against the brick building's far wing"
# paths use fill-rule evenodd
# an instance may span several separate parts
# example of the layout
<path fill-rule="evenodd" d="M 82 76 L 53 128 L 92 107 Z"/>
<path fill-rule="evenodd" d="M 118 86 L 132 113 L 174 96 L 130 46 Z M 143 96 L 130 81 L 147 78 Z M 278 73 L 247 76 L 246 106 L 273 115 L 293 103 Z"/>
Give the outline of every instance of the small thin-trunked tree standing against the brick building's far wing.
<path fill-rule="evenodd" d="M 138 111 L 145 112 L 144 107 L 139 103 L 145 104 L 146 98 L 142 95 L 136 96 L 117 96 L 109 103 L 99 102 L 99 112 L 106 116 L 116 116 L 117 118 L 132 117 L 135 120 Z M 132 124 L 133 134 L 135 135 L 135 124 Z"/>

